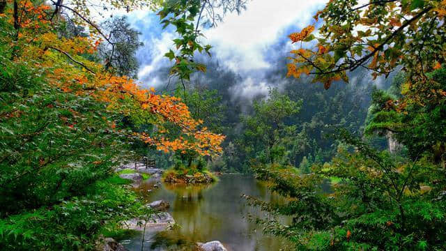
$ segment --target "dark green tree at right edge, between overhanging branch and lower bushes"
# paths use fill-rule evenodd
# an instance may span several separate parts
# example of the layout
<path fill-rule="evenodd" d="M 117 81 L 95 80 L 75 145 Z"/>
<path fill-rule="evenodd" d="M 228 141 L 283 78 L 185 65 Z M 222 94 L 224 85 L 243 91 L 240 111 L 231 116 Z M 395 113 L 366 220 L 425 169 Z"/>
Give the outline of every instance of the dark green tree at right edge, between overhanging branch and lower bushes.
<path fill-rule="evenodd" d="M 417 96 L 406 94 L 397 99 L 392 95 L 390 92 L 401 92 L 400 79 L 394 81 L 389 91 L 374 91 L 364 133 L 370 136 L 374 132 L 380 135 L 393 132 L 413 160 L 430 155 L 432 160 L 444 163 L 446 93 L 443 95 L 443 90 L 446 89 L 446 70 L 440 68 L 427 77 L 429 80 L 423 83 Z M 397 105 L 401 102 L 402 110 Z"/>

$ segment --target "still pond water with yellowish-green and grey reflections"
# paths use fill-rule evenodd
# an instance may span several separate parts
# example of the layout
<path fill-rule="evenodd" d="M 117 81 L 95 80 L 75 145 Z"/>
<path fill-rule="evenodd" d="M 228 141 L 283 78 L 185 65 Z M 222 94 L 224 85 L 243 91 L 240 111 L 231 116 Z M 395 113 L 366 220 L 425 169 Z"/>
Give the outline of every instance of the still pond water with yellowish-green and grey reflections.
<path fill-rule="evenodd" d="M 144 250 L 193 250 L 194 243 L 215 240 L 233 251 L 273 251 L 286 246 L 283 239 L 263 235 L 261 229 L 256 229 L 258 225 L 245 218 L 247 213 L 261 215 L 261 212 L 247 206 L 240 197 L 242 194 L 277 203 L 284 200 L 251 176 L 226 174 L 214 185 L 162 185 L 157 189 L 149 181 L 140 189 L 152 190 L 145 194 L 151 201 L 169 201 L 169 213 L 178 225 L 158 234 L 149 230 Z M 135 236 L 125 246 L 141 250 L 141 236 Z"/>

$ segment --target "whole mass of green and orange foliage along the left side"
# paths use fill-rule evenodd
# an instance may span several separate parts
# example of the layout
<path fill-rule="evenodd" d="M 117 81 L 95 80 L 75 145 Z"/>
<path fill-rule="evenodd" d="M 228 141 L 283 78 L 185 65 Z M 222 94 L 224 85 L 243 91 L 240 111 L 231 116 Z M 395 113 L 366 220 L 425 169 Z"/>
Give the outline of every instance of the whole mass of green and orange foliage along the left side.
<path fill-rule="evenodd" d="M 125 18 L 98 26 L 82 2 L 1 4 L 1 250 L 94 250 L 119 222 L 146 215 L 115 173 L 134 160 L 135 144 L 196 157 L 221 151 L 224 136 L 180 98 L 126 76 L 139 42 Z"/>

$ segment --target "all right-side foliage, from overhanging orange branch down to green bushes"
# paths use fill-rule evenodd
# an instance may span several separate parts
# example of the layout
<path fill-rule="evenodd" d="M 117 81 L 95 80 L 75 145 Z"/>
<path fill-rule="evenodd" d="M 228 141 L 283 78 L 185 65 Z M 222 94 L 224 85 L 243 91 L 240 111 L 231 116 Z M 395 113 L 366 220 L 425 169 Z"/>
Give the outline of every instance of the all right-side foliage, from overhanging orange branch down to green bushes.
<path fill-rule="evenodd" d="M 337 128 L 341 144 L 309 174 L 283 165 L 256 164 L 256 174 L 291 198 L 277 205 L 247 197 L 270 213 L 256 219 L 268 233 L 299 250 L 444 250 L 445 243 L 445 2 L 330 1 L 308 26 L 289 38 L 315 40 L 293 50 L 289 76 L 314 75 L 325 89 L 347 70 L 371 75 L 401 71 L 388 90 L 375 89 L 364 132 Z M 314 45 L 314 44 L 313 44 Z M 363 136 L 369 137 L 369 139 Z M 389 149 L 374 149 L 376 137 Z M 364 142 L 367 140 L 367 142 Z M 378 144 L 379 145 L 379 144 Z M 336 181 L 330 191 L 327 180 Z M 279 215 L 293 218 L 282 225 Z"/>

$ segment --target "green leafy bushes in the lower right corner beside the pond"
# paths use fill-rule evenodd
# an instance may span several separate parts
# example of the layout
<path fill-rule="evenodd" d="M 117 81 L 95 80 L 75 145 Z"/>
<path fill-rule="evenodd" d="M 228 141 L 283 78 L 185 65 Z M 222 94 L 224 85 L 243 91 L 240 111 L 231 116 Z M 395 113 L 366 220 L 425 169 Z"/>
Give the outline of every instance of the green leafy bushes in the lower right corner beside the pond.
<path fill-rule="evenodd" d="M 273 220 L 256 219 L 265 231 L 289 238 L 298 250 L 446 248 L 442 171 L 426 159 L 408 162 L 371 149 L 345 130 L 338 138 L 355 151 L 339 149 L 330 165 L 314 165 L 311 174 L 256 169 L 272 190 L 291 198 L 279 205 L 247 198 L 272 215 Z M 341 179 L 330 194 L 321 191 L 327 176 Z M 279 215 L 291 216 L 291 225 L 282 225 Z"/>

